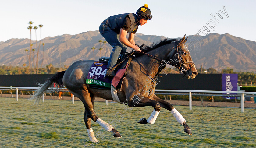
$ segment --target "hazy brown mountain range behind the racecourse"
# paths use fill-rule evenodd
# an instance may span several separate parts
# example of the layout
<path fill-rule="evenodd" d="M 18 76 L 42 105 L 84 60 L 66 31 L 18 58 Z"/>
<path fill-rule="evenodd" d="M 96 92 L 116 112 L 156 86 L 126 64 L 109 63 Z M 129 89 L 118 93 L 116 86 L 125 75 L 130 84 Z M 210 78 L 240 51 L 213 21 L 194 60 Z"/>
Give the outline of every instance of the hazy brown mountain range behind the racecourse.
<path fill-rule="evenodd" d="M 181 35 L 182 37 L 183 35 Z M 134 41 L 136 44 L 150 45 L 153 42 L 164 39 L 164 36 L 144 35 L 135 33 Z M 179 38 L 177 38 L 179 39 Z M 105 41 L 100 35 L 99 30 L 83 32 L 76 35 L 63 34 L 61 36 L 46 37 L 41 40 L 44 43 L 40 46 L 38 55 L 39 64 L 52 63 L 56 66 L 71 65 L 77 60 L 93 60 L 93 50 L 95 60 L 101 56 L 109 56 L 112 47 L 106 43 L 99 43 L 99 40 Z M 34 51 L 34 60 L 36 60 L 36 44 L 40 41 L 32 41 Z M 208 69 L 210 67 L 221 71 L 227 67 L 235 71 L 252 71 L 256 69 L 256 42 L 232 36 L 228 33 L 217 34 L 210 33 L 206 36 L 191 35 L 186 42 L 190 50 L 191 57 L 197 68 Z M 28 54 L 25 49 L 30 49 L 30 39 L 10 39 L 0 42 L 0 64 L 1 65 L 28 65 Z M 127 52 L 131 49 L 127 49 Z M 33 60 L 33 59 L 32 59 Z M 33 62 L 32 62 L 33 63 Z"/>

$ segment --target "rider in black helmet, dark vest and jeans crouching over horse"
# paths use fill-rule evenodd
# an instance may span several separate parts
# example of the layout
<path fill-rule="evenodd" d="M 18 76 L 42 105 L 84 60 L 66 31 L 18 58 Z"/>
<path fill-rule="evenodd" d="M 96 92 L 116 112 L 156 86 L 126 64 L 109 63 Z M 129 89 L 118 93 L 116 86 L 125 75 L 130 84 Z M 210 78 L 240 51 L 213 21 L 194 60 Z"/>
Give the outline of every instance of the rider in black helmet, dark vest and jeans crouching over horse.
<path fill-rule="evenodd" d="M 151 19 L 151 11 L 148 9 L 148 4 L 145 4 L 136 11 L 136 14 L 125 13 L 110 16 L 101 23 L 99 31 L 108 44 L 113 47 L 108 61 L 107 76 L 116 75 L 110 69 L 116 64 L 120 52 L 126 52 L 126 46 L 133 48 L 135 51 L 140 51 L 140 48 L 135 45 L 134 33 L 138 30 L 138 25 L 142 26 Z M 129 37 L 127 40 L 126 35 L 128 32 Z"/>

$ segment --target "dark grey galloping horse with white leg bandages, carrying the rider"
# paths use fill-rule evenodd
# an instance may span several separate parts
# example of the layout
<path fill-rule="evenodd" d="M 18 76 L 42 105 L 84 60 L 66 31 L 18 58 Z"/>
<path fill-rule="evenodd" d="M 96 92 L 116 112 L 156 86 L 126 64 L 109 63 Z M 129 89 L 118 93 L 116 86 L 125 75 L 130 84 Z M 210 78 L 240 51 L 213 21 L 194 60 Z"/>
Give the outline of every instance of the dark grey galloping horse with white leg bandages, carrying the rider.
<path fill-rule="evenodd" d="M 184 77 L 188 79 L 193 79 L 198 74 L 195 64 L 191 59 L 190 52 L 185 45 L 187 41 L 185 36 L 180 40 L 166 38 L 159 42 L 154 42 L 150 46 L 145 46 L 141 48 L 143 52 L 137 53 L 135 58 L 130 62 L 126 77 L 123 79 L 121 91 L 117 90 L 119 103 L 123 103 L 129 107 L 151 106 L 154 108 L 148 119 L 141 118 L 137 123 L 154 124 L 161 107 L 163 107 L 169 110 L 177 122 L 184 126 L 184 132 L 192 135 L 190 127 L 179 111 L 172 104 L 158 98 L 154 94 L 155 86 L 159 81 L 158 74 L 161 71 L 164 72 L 166 64 L 178 68 L 180 73 L 182 72 Z M 90 88 L 89 84 L 86 84 L 89 69 L 94 62 L 93 60 L 74 62 L 66 71 L 56 73 L 44 84 L 41 84 L 31 99 L 35 99 L 34 104 L 38 104 L 41 96 L 53 83 L 61 87 L 65 86 L 74 96 L 83 102 L 85 108 L 84 122 L 88 136 L 91 141 L 96 143 L 98 140 L 94 136 L 91 128 L 91 120 L 101 125 L 106 131 L 112 132 L 114 137 L 120 138 L 122 136 L 112 125 L 103 121 L 94 112 L 95 96 L 105 100 L 113 100 L 111 90 Z"/>

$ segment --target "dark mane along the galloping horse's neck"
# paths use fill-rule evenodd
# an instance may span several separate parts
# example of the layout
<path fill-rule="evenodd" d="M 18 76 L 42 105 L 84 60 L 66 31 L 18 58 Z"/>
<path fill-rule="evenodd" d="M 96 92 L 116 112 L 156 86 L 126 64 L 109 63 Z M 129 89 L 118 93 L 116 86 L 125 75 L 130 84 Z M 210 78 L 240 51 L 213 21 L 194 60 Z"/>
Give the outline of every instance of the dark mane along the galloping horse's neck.
<path fill-rule="evenodd" d="M 143 52 L 148 52 L 148 51 L 151 51 L 151 50 L 154 50 L 154 49 L 156 49 L 156 48 L 158 48 L 158 47 L 161 47 L 161 46 L 164 46 L 164 45 L 166 45 L 166 44 L 170 44 L 170 43 L 172 43 L 173 41 L 178 41 L 177 39 L 169 39 L 169 38 L 165 38 L 165 39 L 163 39 L 163 40 L 160 40 L 160 41 L 158 41 L 158 42 L 153 42 L 153 44 L 151 44 L 150 46 L 144 46 L 143 48 L 142 48 L 142 51 Z M 136 55 L 136 57 L 138 57 L 138 56 L 141 56 L 141 55 L 143 55 L 143 54 L 135 54 Z"/>

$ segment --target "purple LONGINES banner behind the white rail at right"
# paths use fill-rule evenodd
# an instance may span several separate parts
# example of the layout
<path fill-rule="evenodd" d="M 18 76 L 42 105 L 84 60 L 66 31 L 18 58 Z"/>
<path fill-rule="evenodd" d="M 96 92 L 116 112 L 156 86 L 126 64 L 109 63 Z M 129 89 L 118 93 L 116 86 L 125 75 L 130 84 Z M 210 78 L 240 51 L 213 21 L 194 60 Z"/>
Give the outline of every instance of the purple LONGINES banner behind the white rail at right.
<path fill-rule="evenodd" d="M 232 74 L 223 73 L 222 74 L 222 91 L 237 91 L 237 80 L 238 80 L 238 75 L 236 73 L 232 73 Z M 229 94 L 229 93 L 223 93 L 223 94 Z M 224 96 L 224 98 L 234 99 L 235 97 Z"/>

